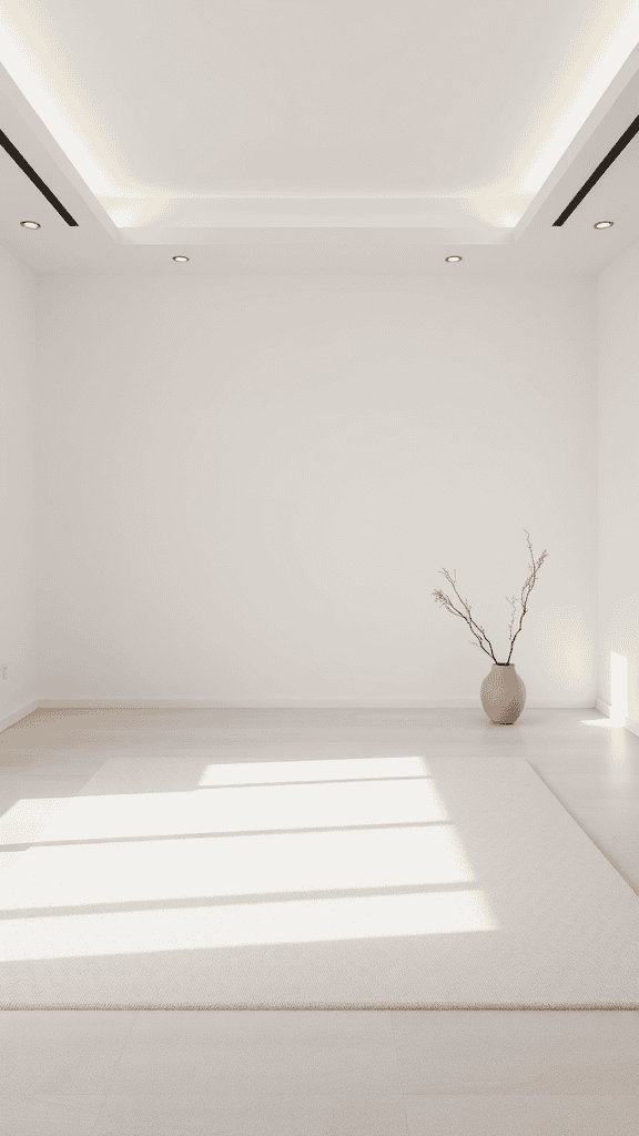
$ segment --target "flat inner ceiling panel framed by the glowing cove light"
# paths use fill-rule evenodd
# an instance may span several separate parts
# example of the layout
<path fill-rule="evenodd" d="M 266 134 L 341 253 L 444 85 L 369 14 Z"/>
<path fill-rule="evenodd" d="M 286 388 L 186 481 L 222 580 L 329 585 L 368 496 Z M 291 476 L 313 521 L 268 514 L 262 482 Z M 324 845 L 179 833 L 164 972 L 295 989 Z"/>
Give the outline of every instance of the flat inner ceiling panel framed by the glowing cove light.
<path fill-rule="evenodd" d="M 609 5 L 22 0 L 105 157 L 202 194 L 466 193 L 507 176 Z M 26 20 L 23 26 L 27 36 Z M 38 45 L 35 44 L 38 51 Z M 64 81 L 64 89 L 63 83 Z M 117 140 L 110 153 L 109 137 Z M 117 152 L 119 151 L 119 153 Z"/>

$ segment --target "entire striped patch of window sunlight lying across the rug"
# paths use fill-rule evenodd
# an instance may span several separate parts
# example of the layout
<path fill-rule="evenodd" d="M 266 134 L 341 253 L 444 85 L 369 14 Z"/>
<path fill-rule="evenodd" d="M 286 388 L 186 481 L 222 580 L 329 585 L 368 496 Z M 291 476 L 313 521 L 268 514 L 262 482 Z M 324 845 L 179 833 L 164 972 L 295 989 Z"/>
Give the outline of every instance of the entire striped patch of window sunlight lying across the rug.
<path fill-rule="evenodd" d="M 421 757 L 211 763 L 192 790 L 69 797 L 0 909 L 5 961 L 497 928 Z"/>

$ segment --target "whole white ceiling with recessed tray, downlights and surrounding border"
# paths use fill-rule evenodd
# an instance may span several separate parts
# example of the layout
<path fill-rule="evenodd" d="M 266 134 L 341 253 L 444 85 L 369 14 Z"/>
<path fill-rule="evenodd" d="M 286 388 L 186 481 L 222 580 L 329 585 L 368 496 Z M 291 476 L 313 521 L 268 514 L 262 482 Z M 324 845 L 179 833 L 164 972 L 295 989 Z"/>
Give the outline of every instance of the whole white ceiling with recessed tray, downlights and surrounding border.
<path fill-rule="evenodd" d="M 554 222 L 639 115 L 638 41 L 639 0 L 0 0 L 0 130 L 77 223 L 0 148 L 0 243 L 43 273 L 590 274 L 639 239 L 639 133 Z"/>

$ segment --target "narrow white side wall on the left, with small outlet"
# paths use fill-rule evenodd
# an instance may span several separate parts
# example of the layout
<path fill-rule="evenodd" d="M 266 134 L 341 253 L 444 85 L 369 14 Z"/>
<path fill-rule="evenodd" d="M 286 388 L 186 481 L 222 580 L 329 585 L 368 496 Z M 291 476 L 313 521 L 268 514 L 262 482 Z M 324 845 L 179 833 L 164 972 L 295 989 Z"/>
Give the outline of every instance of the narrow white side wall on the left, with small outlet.
<path fill-rule="evenodd" d="M 34 337 L 34 275 L 0 245 L 0 729 L 38 698 Z"/>

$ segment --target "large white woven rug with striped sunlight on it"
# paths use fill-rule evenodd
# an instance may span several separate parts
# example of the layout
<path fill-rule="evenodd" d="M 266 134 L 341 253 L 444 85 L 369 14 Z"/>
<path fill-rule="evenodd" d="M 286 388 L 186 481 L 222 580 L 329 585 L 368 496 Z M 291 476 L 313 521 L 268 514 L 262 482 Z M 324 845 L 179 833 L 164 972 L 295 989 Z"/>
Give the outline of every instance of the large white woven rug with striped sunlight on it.
<path fill-rule="evenodd" d="M 2 875 L 0 1006 L 639 1006 L 639 900 L 523 758 L 308 752 L 108 758 Z"/>

